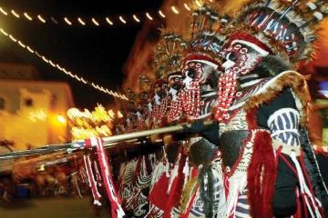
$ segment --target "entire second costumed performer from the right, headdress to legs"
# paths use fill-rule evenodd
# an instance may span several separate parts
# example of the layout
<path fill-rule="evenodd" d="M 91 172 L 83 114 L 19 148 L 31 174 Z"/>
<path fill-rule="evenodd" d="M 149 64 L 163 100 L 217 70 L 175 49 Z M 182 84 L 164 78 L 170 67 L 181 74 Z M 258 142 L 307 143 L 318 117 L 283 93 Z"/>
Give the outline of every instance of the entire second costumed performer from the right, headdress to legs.
<path fill-rule="evenodd" d="M 189 47 L 183 59 L 184 88 L 179 97 L 183 113 L 193 124 L 190 130 L 189 159 L 184 190 L 179 208 L 172 208 L 170 217 L 216 217 L 220 208 L 222 184 L 218 159 L 218 125 L 206 130 L 202 121 L 212 118 L 217 100 L 217 78 L 220 74 L 221 41 L 218 13 L 202 6 L 192 13 Z M 196 134 L 196 135 L 193 135 Z"/>

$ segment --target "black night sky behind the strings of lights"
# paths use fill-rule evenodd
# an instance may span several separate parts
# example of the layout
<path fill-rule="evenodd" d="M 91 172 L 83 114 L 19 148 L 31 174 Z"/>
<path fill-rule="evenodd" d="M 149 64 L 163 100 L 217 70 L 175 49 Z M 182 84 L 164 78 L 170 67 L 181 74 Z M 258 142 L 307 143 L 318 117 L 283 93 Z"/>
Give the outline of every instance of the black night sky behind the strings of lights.
<path fill-rule="evenodd" d="M 161 5 L 161 0 L 2 0 L 0 6 L 15 9 L 20 15 L 28 12 L 31 15 L 54 16 L 60 23 L 55 25 L 48 22 L 29 22 L 25 18 L 17 19 L 14 16 L 0 14 L 0 26 L 17 39 L 30 45 L 40 54 L 44 54 L 57 64 L 66 67 L 72 73 L 84 76 L 89 81 L 94 81 L 104 87 L 117 90 L 124 80 L 122 68 L 128 59 L 138 31 L 142 23 L 137 25 L 132 22 L 122 25 L 118 20 L 114 27 L 88 27 L 77 25 L 67 26 L 59 17 L 66 15 L 68 18 L 81 16 L 104 17 L 110 15 L 131 15 L 156 12 Z M 72 20 L 72 19 L 71 19 Z M 102 21 L 102 24 L 105 24 Z M 131 25 L 133 24 L 133 25 Z M 44 80 L 67 82 L 73 91 L 77 107 L 93 109 L 97 103 L 108 105 L 113 98 L 102 94 L 88 85 L 81 84 L 59 72 L 56 68 L 46 64 L 36 55 L 30 54 L 25 49 L 13 43 L 4 35 L 0 35 L 0 61 L 33 64 Z"/>

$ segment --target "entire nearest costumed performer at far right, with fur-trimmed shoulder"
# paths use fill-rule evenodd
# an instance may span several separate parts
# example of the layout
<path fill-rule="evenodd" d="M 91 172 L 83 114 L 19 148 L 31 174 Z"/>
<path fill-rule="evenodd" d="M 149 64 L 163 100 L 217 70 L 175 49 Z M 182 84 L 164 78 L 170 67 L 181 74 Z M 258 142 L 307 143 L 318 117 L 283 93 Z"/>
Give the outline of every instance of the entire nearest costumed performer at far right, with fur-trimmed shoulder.
<path fill-rule="evenodd" d="M 219 217 L 327 212 L 306 130 L 308 87 L 292 70 L 311 58 L 326 13 L 323 1 L 255 1 L 227 25 L 215 114 L 227 201 Z"/>

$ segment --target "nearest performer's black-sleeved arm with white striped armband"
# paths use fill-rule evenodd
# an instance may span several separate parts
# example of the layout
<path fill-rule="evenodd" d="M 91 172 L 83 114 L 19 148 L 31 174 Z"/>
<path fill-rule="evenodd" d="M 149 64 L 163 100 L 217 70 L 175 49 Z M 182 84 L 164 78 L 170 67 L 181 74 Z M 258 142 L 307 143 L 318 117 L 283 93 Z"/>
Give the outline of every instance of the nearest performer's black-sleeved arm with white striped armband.
<path fill-rule="evenodd" d="M 276 217 L 290 216 L 296 212 L 295 190 L 298 179 L 292 171 L 291 166 L 294 165 L 288 153 L 300 147 L 300 113 L 297 111 L 292 91 L 285 89 L 270 104 L 263 104 L 257 119 L 261 127 L 272 133 L 272 144 L 282 146 L 282 154 L 278 158 L 273 212 Z"/>

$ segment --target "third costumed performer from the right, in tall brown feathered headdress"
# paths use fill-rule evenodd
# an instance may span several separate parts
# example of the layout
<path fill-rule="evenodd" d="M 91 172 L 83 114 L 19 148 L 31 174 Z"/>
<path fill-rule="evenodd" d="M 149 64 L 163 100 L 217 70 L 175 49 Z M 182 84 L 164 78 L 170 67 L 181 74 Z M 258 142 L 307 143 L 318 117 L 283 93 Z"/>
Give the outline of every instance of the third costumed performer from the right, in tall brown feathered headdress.
<path fill-rule="evenodd" d="M 182 87 L 181 58 L 186 43 L 182 41 L 180 35 L 174 30 L 161 29 L 159 44 L 154 51 L 154 66 L 157 74 L 165 84 L 165 91 L 169 91 L 164 100 L 169 100 L 168 104 L 161 101 L 161 124 L 178 122 L 181 118 L 181 102 L 179 101 L 179 90 Z M 160 93 L 159 93 L 160 95 Z M 155 94 L 156 96 L 156 94 Z M 156 103 L 155 103 L 156 104 Z M 156 105 L 155 105 L 156 107 Z M 156 109 L 155 109 L 156 112 Z M 154 118 L 159 118 L 155 113 Z M 158 121 L 160 121 L 158 119 Z M 164 137 L 164 156 L 157 164 L 152 175 L 152 188 L 149 193 L 150 210 L 146 217 L 163 217 L 167 212 L 167 204 L 171 203 L 173 194 L 171 187 L 175 187 L 177 176 L 182 175 L 179 168 L 185 164 L 186 155 L 183 149 L 178 149 L 181 142 L 172 143 L 171 135 Z M 171 144 L 172 143 L 172 144 Z M 175 181 L 175 182 L 174 182 Z"/>

